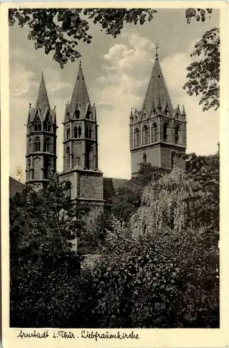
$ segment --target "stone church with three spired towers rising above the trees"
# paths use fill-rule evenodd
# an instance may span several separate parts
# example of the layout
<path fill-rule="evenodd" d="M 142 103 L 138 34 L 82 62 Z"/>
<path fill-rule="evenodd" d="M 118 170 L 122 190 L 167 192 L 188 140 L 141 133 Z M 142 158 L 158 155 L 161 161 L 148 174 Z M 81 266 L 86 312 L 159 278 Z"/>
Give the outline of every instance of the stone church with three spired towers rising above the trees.
<path fill-rule="evenodd" d="M 127 116 L 128 117 L 128 116 Z M 176 166 L 185 170 L 186 114 L 183 106 L 173 109 L 162 73 L 158 52 L 142 109 L 131 109 L 129 116 L 131 175 L 139 165 L 149 163 L 167 171 Z M 29 104 L 26 128 L 26 184 L 39 191 L 56 173 L 56 107 L 51 109 L 42 73 L 35 106 Z M 81 63 L 71 101 L 62 118 L 63 171 L 60 180 L 71 182 L 71 198 L 88 206 L 87 226 L 103 213 L 105 202 L 129 180 L 103 177 L 98 161 L 96 106 L 91 104 Z M 16 180 L 11 180 L 15 186 Z M 11 185 L 10 185 L 11 186 Z M 10 187 L 10 191 L 15 189 Z"/>

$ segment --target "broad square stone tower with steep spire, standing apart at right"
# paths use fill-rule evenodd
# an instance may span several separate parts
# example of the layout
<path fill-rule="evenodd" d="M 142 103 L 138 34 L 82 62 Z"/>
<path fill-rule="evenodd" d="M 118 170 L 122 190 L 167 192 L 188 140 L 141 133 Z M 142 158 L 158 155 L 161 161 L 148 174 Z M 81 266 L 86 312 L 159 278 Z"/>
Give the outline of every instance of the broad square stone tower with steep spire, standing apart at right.
<path fill-rule="evenodd" d="M 185 107 L 173 109 L 156 52 L 142 110 L 130 112 L 132 175 L 137 175 L 141 163 L 185 169 L 186 123 Z"/>

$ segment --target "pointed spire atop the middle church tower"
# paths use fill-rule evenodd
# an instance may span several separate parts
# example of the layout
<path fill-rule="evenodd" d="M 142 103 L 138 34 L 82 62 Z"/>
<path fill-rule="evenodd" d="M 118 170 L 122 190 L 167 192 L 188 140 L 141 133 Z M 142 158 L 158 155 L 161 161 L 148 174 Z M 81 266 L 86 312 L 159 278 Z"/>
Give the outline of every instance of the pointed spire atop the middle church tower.
<path fill-rule="evenodd" d="M 83 70 L 81 66 L 81 61 L 78 67 L 78 74 L 76 77 L 76 83 L 71 96 L 71 102 L 69 104 L 70 118 L 74 116 L 74 112 L 77 107 L 80 108 L 81 117 L 85 117 L 88 106 L 90 105 L 89 95 L 87 93 L 87 86 L 85 84 L 85 79 L 83 76 Z"/>

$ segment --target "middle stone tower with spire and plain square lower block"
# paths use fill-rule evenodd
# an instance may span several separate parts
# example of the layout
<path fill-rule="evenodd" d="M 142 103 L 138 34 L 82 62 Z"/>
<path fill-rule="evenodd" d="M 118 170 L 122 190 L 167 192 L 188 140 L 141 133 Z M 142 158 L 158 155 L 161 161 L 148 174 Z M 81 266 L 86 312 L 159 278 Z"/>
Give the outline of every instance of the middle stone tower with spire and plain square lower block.
<path fill-rule="evenodd" d="M 92 226 L 103 212 L 103 173 L 98 168 L 96 107 L 90 103 L 81 63 L 63 125 L 64 171 L 60 179 L 71 182 L 71 198 L 90 208 L 87 226 Z"/>

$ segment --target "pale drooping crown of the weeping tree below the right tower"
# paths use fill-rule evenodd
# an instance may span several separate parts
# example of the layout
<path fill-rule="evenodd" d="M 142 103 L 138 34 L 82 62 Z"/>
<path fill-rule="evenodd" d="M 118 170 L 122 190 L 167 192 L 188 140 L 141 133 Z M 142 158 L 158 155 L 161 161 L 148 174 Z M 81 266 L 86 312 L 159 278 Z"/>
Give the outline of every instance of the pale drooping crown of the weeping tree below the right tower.
<path fill-rule="evenodd" d="M 175 168 L 160 180 L 151 182 L 142 194 L 142 205 L 131 220 L 133 231 L 152 234 L 154 231 L 178 230 L 194 227 L 197 216 L 190 215 L 203 203 L 203 193 L 196 191 L 199 186 L 180 168 Z"/>

